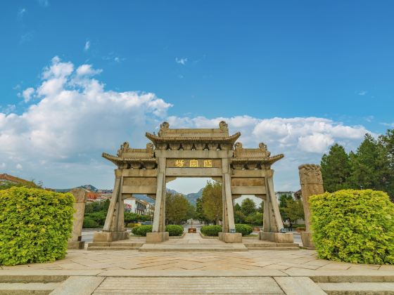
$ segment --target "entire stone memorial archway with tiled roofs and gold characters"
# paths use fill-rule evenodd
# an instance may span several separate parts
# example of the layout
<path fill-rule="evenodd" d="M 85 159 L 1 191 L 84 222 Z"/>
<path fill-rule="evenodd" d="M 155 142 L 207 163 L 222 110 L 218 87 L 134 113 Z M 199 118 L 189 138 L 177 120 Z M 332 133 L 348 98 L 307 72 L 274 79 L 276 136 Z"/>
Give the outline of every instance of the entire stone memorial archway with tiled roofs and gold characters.
<path fill-rule="evenodd" d="M 170 129 L 170 125 L 164 122 L 157 136 L 146 133 L 152 143 L 148 143 L 145 149 L 129 147 L 125 142 L 116 156 L 103 153 L 103 157 L 113 162 L 117 169 L 106 223 L 102 232 L 94 234 L 94 242 L 127 239 L 123 199 L 130 194 L 146 194 L 155 199 L 153 232 L 148 233 L 146 242 L 167 240 L 165 184 L 178 177 L 210 177 L 222 183 L 223 232 L 220 239 L 224 242 L 241 242 L 241 235 L 235 232 L 232 196 L 262 197 L 265 199 L 265 218 L 264 232 L 260 236 L 277 242 L 283 224 L 275 198 L 271 165 L 284 155 L 271 157 L 264 143 L 254 149 L 243 148 L 241 143 L 236 143 L 239 136 L 239 132 L 230 136 L 225 122 L 220 122 L 217 129 Z"/>

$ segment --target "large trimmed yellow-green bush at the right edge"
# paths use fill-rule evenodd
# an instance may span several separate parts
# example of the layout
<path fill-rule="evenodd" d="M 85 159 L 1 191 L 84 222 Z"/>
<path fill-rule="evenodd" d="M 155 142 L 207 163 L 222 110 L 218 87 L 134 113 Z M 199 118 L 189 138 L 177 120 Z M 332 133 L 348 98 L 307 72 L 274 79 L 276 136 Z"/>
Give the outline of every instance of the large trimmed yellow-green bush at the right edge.
<path fill-rule="evenodd" d="M 394 204 L 385 192 L 339 190 L 310 197 L 319 258 L 394 263 Z"/>

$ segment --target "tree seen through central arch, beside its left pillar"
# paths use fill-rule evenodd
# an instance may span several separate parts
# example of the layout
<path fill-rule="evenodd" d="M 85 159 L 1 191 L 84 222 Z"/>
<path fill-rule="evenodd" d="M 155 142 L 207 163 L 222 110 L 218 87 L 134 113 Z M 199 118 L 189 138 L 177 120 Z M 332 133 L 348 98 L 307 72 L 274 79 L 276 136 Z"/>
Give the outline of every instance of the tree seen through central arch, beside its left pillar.
<path fill-rule="evenodd" d="M 165 219 L 167 223 L 180 224 L 187 218 L 189 201 L 184 195 L 167 192 L 165 195 Z"/>

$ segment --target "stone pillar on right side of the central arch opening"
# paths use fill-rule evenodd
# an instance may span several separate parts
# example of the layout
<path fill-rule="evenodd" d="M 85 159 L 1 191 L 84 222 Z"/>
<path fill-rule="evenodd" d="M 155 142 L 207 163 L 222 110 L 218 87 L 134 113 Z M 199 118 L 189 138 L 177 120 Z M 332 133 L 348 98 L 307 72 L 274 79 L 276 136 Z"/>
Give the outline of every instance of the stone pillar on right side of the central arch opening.
<path fill-rule="evenodd" d="M 230 178 L 230 163 L 229 159 L 222 158 L 222 179 L 223 179 L 223 192 L 224 192 L 224 204 L 226 205 L 224 210 L 224 215 L 227 213 L 227 219 L 224 221 L 226 228 L 229 228 L 229 232 L 220 232 L 219 239 L 227 243 L 241 243 L 242 235 L 239 232 L 235 232 L 234 223 L 234 208 L 233 208 L 233 198 L 231 195 L 231 178 Z"/>

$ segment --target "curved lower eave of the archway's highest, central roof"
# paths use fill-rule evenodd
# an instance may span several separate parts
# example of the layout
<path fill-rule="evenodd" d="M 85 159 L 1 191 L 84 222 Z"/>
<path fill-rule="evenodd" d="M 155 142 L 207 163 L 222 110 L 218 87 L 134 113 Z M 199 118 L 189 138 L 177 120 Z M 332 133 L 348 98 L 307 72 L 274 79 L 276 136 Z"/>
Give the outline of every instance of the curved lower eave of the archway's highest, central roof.
<path fill-rule="evenodd" d="M 154 144 L 156 143 L 186 143 L 186 142 L 201 142 L 201 143 L 230 143 L 234 145 L 236 140 L 241 136 L 240 132 L 235 133 L 232 136 L 225 137 L 197 137 L 197 136 L 155 136 L 152 133 L 146 132 L 145 136 L 150 139 Z"/>

